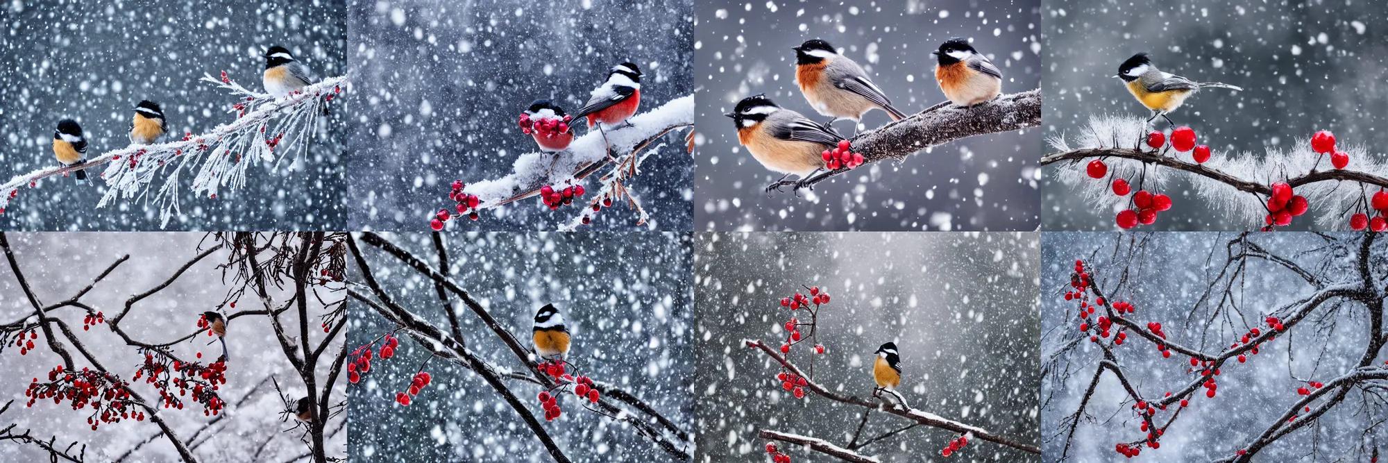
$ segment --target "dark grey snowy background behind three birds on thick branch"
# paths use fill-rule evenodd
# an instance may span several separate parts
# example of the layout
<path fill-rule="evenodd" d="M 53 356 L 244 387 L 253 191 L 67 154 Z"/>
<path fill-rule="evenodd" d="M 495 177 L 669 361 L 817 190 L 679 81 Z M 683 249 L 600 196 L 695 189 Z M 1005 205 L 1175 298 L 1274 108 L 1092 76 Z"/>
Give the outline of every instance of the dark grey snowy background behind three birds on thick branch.
<path fill-rule="evenodd" d="M 952 37 L 970 39 L 992 60 L 1004 75 L 1002 93 L 1037 89 L 1040 0 L 709 0 L 695 10 L 695 230 L 1034 230 L 1040 225 L 1037 129 L 963 139 L 902 162 L 867 164 L 795 197 L 763 191 L 780 173 L 738 146 L 731 119 L 723 116 L 741 98 L 765 93 L 787 110 L 826 119 L 795 86 L 791 47 L 809 39 L 843 50 L 906 114 L 945 101 L 930 51 Z M 867 129 L 887 122 L 883 111 L 863 118 Z M 834 128 L 854 133 L 849 122 Z"/>

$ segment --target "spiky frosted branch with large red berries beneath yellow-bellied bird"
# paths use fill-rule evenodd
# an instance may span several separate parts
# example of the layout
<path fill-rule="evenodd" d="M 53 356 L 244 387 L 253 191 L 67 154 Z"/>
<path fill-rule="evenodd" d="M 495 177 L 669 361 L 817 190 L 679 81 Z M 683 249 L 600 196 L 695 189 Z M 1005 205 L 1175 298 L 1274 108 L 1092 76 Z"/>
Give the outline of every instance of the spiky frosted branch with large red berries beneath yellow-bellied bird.
<path fill-rule="evenodd" d="M 1190 130 L 1177 130 L 1181 129 Z M 1088 125 L 1069 137 L 1051 137 L 1048 143 L 1055 152 L 1042 158 L 1041 164 L 1056 164 L 1052 175 L 1101 211 L 1131 209 L 1141 216 L 1148 207 L 1134 204 L 1140 202 L 1137 194 L 1167 193 L 1180 198 L 1169 187 L 1178 184 L 1173 180 L 1181 176 L 1201 198 L 1210 202 L 1210 215 L 1228 216 L 1251 229 L 1284 226 L 1299 215 L 1277 220 L 1278 209 L 1269 200 L 1273 184 L 1278 182 L 1305 198 L 1307 213 L 1314 215 L 1317 227 L 1362 230 L 1378 223 L 1388 226 L 1388 222 L 1373 220 L 1384 213 L 1378 212 L 1382 208 L 1374 207 L 1373 198 L 1388 187 L 1388 162 L 1352 140 L 1341 140 L 1338 146 L 1331 141 L 1326 152 L 1317 152 L 1307 139 L 1296 139 L 1285 150 L 1267 147 L 1264 152 L 1228 154 L 1201 144 L 1178 146 L 1187 143 L 1171 137 L 1173 132 L 1146 132 L 1141 118 L 1092 116 Z M 1198 143 L 1219 146 L 1221 140 L 1219 134 L 1210 134 L 1210 140 Z M 1099 164 L 1094 164 L 1095 159 Z M 1117 180 L 1123 180 L 1120 186 L 1115 184 Z M 1362 220 L 1356 215 L 1363 215 Z M 1120 213 L 1117 222 L 1131 227 L 1137 225 L 1133 222 L 1135 218 L 1130 216 L 1124 223 Z M 1141 223 L 1149 225 L 1151 219 L 1155 213 L 1153 218 L 1144 216 Z"/>

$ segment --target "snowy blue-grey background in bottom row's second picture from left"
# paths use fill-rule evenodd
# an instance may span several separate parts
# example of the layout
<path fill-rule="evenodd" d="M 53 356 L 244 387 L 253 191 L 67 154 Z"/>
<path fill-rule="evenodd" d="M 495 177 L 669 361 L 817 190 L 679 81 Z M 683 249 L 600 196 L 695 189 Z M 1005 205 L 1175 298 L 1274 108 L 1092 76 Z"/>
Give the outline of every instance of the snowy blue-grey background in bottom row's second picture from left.
<path fill-rule="evenodd" d="M 437 262 L 430 234 L 386 238 Z M 687 433 L 694 433 L 693 272 L 688 233 L 448 234 L 450 274 L 493 317 L 529 344 L 534 312 L 554 304 L 573 344 L 569 360 L 595 381 L 625 388 Z M 433 280 L 362 244 L 368 263 L 396 302 L 447 327 Z M 433 263 L 436 265 L 436 263 Z M 359 281 L 355 265 L 350 272 Z M 369 292 L 369 290 L 366 290 Z M 452 298 L 468 349 L 502 369 L 523 365 L 471 309 Z M 393 329 L 364 304 L 351 305 L 348 345 L 355 349 Z M 380 344 L 376 344 L 379 347 Z M 482 377 L 429 358 L 400 337 L 396 356 L 372 362 L 350 388 L 353 459 L 357 462 L 551 462 L 534 434 Z M 433 383 L 409 406 L 394 402 L 421 365 Z M 508 383 L 543 419 L 539 385 Z M 568 394 L 564 414 L 541 421 L 575 462 L 666 462 L 669 455 L 630 426 L 579 408 Z M 683 445 L 683 442 L 675 442 Z"/>

